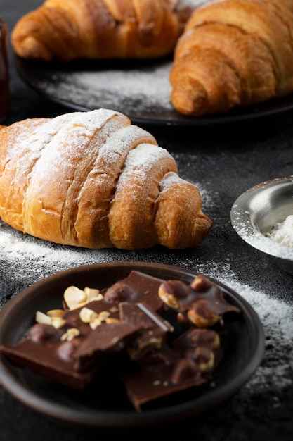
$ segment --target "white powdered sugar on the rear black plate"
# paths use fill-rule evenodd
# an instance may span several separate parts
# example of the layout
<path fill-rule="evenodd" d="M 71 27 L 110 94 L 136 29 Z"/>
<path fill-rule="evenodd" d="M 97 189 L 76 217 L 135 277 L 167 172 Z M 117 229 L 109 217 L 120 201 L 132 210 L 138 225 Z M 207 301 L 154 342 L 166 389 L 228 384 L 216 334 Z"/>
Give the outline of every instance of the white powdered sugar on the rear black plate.
<path fill-rule="evenodd" d="M 171 61 L 117 64 L 116 68 L 103 63 L 96 70 L 53 74 L 51 80 L 37 81 L 37 88 L 82 108 L 128 109 L 137 115 L 156 110 L 171 111 L 169 70 Z M 103 66 L 103 67 L 102 67 Z"/>

